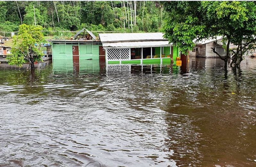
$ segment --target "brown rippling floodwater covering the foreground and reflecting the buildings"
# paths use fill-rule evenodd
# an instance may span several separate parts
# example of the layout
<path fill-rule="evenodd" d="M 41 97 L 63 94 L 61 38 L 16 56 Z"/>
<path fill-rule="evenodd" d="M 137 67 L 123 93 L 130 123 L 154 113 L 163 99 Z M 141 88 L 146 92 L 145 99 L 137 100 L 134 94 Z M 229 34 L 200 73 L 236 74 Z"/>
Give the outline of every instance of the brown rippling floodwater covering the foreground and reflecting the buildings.
<path fill-rule="evenodd" d="M 39 66 L 0 65 L 1 167 L 256 166 L 256 59 Z"/>

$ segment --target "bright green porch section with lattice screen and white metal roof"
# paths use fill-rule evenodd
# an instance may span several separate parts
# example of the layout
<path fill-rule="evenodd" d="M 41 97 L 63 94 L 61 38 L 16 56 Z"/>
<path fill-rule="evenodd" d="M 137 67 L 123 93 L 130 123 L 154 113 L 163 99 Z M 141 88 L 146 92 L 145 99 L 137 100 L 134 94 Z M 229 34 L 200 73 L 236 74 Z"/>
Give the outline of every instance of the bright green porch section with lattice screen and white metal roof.
<path fill-rule="evenodd" d="M 99 39 L 107 64 L 170 64 L 179 55 L 162 33 L 104 33 Z"/>

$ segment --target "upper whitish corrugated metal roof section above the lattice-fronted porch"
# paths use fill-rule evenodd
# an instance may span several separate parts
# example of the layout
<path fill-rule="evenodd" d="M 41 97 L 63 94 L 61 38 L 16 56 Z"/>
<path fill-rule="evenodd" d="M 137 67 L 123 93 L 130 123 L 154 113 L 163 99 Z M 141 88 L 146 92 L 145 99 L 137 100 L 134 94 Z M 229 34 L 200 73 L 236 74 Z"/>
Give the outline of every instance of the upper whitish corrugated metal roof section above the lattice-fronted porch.
<path fill-rule="evenodd" d="M 104 33 L 99 34 L 100 41 L 105 42 L 129 42 L 129 41 L 167 41 L 163 33 Z"/>

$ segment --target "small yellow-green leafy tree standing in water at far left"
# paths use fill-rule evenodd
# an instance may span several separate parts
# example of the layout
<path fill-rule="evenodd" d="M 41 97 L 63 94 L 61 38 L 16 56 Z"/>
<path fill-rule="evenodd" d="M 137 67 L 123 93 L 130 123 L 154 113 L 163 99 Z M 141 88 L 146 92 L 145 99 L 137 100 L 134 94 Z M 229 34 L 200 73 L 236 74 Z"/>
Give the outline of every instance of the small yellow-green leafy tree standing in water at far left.
<path fill-rule="evenodd" d="M 13 36 L 13 48 L 6 58 L 8 64 L 22 66 L 29 62 L 30 68 L 34 68 L 35 61 L 42 61 L 43 53 L 35 45 L 44 42 L 41 26 L 22 24 L 19 34 Z"/>

